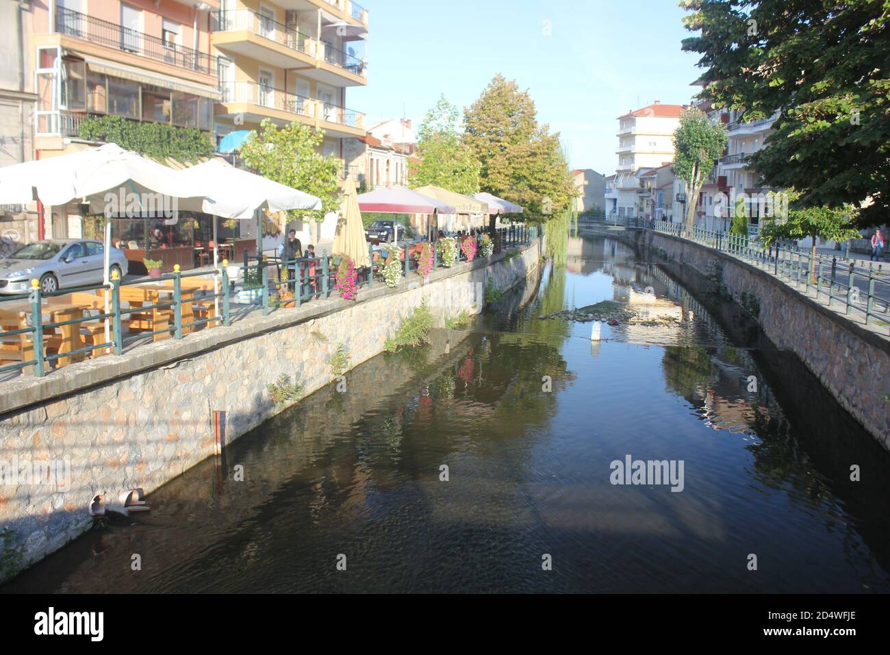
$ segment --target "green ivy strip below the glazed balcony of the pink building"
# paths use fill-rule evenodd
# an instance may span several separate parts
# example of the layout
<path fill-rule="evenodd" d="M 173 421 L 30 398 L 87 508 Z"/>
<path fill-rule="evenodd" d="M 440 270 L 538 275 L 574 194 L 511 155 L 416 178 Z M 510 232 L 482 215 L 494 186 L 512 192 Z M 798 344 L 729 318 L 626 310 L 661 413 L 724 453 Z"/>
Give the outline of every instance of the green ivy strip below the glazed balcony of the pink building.
<path fill-rule="evenodd" d="M 80 124 L 80 138 L 117 143 L 154 160 L 168 157 L 195 162 L 213 154 L 214 143 L 207 132 L 196 127 L 176 127 L 166 123 L 141 123 L 121 116 L 90 116 Z"/>

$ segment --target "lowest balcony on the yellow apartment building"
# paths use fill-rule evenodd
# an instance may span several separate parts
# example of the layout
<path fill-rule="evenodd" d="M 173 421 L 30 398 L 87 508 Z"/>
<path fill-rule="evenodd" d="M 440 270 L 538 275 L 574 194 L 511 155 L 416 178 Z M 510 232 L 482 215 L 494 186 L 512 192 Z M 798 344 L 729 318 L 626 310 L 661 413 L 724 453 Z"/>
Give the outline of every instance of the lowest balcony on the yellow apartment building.
<path fill-rule="evenodd" d="M 360 111 L 252 81 L 221 83 L 220 90 L 224 114 L 240 114 L 257 123 L 272 119 L 279 125 L 300 120 L 340 138 L 365 135 L 365 115 Z"/>

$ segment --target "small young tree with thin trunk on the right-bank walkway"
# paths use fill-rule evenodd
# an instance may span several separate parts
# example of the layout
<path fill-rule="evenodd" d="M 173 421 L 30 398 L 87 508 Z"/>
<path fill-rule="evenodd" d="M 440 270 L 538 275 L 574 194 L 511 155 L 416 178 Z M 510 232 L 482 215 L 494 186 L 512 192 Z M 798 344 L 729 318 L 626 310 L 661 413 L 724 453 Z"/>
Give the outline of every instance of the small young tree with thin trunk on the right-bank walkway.
<path fill-rule="evenodd" d="M 793 203 L 800 202 L 799 192 L 789 192 Z M 816 282 L 816 240 L 843 241 L 859 236 L 853 229 L 851 217 L 855 215 L 852 205 L 845 207 L 798 207 L 789 209 L 788 217 L 766 217 L 760 228 L 760 240 L 769 248 L 773 243 L 790 239 L 812 240 L 810 247 L 810 279 Z"/>

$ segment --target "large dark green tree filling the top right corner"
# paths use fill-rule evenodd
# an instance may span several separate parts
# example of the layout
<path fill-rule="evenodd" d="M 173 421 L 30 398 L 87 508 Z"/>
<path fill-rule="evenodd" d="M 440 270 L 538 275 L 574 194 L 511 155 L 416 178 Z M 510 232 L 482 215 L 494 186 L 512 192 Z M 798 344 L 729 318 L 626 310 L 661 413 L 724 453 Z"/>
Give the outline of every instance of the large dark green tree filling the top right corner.
<path fill-rule="evenodd" d="M 861 225 L 890 209 L 890 11 L 876 0 L 683 0 L 686 51 L 701 53 L 701 97 L 779 112 L 750 164 L 805 207 L 861 208 Z M 869 205 L 867 200 L 872 202 Z M 868 206 L 867 206 L 868 205 Z"/>

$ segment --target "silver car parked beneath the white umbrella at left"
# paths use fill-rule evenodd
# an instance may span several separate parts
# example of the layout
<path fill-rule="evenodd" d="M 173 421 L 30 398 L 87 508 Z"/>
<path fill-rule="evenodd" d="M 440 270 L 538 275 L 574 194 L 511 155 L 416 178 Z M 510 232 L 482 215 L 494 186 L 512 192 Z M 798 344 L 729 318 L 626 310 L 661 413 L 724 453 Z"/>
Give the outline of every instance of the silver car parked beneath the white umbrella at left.
<path fill-rule="evenodd" d="M 31 280 L 40 281 L 44 292 L 66 287 L 101 284 L 105 262 L 105 244 L 92 239 L 45 239 L 28 243 L 0 259 L 0 294 L 26 293 Z M 109 252 L 109 275 L 117 270 L 121 278 L 127 271 L 123 250 Z"/>

